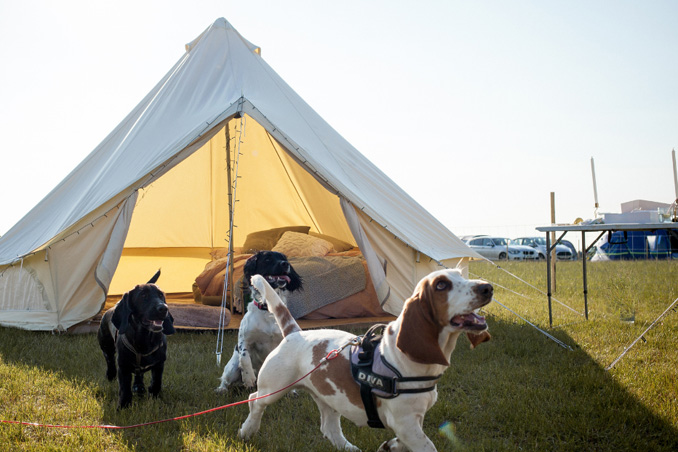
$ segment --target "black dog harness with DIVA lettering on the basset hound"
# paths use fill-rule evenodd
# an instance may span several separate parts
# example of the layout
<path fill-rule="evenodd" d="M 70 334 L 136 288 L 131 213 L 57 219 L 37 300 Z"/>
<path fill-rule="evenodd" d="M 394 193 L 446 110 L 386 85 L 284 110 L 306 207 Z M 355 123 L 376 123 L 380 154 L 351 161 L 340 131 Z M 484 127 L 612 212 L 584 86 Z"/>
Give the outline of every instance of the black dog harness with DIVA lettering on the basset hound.
<path fill-rule="evenodd" d="M 367 425 L 372 428 L 384 428 L 377 412 L 376 397 L 392 399 L 400 394 L 416 394 L 433 391 L 442 374 L 435 377 L 403 377 L 381 354 L 381 340 L 385 324 L 372 326 L 360 339 L 360 345 L 351 346 L 351 372 L 353 379 L 360 385 L 360 397 L 363 400 Z M 423 388 L 401 388 L 401 383 L 433 382 Z"/>

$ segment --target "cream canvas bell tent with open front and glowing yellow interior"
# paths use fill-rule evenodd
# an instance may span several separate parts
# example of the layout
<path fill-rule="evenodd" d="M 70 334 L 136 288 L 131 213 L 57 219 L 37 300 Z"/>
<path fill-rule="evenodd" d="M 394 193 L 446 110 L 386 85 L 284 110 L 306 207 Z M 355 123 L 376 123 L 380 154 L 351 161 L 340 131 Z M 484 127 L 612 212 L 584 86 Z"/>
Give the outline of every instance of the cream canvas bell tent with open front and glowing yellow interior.
<path fill-rule="evenodd" d="M 359 245 L 391 312 L 432 265 L 479 257 L 222 18 L 0 238 L 0 323 L 68 328 L 158 267 L 164 290 L 190 291 L 209 251 L 228 246 L 229 206 L 235 246 L 289 225 Z"/>

